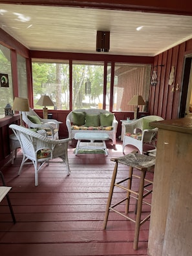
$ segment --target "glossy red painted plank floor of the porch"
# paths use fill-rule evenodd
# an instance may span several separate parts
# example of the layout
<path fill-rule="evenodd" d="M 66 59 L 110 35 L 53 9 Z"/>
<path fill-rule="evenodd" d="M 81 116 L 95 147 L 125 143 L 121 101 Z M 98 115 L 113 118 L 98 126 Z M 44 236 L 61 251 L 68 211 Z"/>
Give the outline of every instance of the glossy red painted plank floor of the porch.
<path fill-rule="evenodd" d="M 122 142 L 118 141 L 116 147 L 107 143 L 109 156 L 75 156 L 75 145 L 75 141 L 69 145 L 70 176 L 58 159 L 41 169 L 37 187 L 34 186 L 32 165 L 27 165 L 17 176 L 21 153 L 18 153 L 14 165 L 3 167 L 6 185 L 12 186 L 10 200 L 17 222 L 12 223 L 4 199 L 0 204 L 1 256 L 147 255 L 149 220 L 140 228 L 136 251 L 133 250 L 133 222 L 110 212 L 107 229 L 103 230 L 114 168 L 111 158 L 123 156 Z M 125 153 L 132 150 L 127 146 Z M 128 173 L 125 165 L 119 165 L 118 170 L 118 178 Z M 152 174 L 147 175 L 153 178 Z M 133 186 L 138 186 L 137 180 L 133 180 Z M 124 193 L 114 191 L 113 200 L 123 198 Z M 144 205 L 144 211 L 147 208 L 149 206 Z"/>

